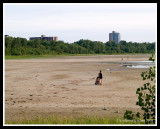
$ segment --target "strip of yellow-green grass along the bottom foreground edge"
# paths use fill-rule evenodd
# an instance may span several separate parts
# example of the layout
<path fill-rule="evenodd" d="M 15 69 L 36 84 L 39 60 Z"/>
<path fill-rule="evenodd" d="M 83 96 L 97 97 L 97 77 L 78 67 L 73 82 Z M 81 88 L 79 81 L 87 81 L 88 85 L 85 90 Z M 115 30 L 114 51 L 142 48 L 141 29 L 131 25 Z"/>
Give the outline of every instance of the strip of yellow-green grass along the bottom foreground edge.
<path fill-rule="evenodd" d="M 5 121 L 5 124 L 145 124 L 144 121 L 127 121 L 119 118 L 106 118 L 98 116 L 81 116 L 81 117 L 58 117 L 48 118 L 37 117 L 36 119 L 19 119 L 14 121 Z"/>

